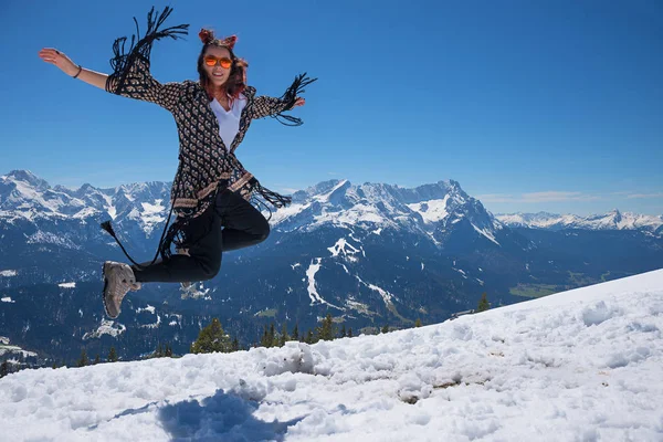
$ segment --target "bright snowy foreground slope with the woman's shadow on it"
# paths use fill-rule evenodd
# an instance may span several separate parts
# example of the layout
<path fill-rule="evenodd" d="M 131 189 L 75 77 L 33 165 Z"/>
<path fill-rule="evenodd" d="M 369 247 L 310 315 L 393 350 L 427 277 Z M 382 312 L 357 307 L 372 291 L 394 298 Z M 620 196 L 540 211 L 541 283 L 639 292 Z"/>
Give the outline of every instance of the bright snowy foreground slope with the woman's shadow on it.
<path fill-rule="evenodd" d="M 0 379 L 0 439 L 661 441 L 663 271 L 307 346 Z"/>

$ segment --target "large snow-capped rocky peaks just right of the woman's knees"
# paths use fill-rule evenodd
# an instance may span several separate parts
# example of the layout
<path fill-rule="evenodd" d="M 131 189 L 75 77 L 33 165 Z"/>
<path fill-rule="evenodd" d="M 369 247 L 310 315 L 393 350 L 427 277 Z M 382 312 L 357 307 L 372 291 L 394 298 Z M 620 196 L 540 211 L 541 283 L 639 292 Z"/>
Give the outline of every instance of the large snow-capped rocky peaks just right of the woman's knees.
<path fill-rule="evenodd" d="M 278 210 L 273 223 L 284 231 L 335 225 L 379 233 L 391 228 L 422 234 L 441 246 L 463 227 L 469 228 L 471 235 L 499 245 L 496 235 L 503 229 L 478 200 L 453 180 L 414 189 L 382 183 L 355 186 L 348 180 L 320 182 L 295 192 L 293 204 Z"/>

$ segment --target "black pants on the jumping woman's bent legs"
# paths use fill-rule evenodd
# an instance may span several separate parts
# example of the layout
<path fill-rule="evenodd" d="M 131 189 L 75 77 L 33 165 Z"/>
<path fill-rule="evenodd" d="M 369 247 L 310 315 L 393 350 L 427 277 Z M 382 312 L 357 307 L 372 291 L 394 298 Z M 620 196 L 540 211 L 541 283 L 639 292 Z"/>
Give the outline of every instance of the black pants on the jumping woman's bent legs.
<path fill-rule="evenodd" d="M 223 229 L 221 229 L 223 227 Z M 270 224 L 262 213 L 239 193 L 224 190 L 213 204 L 185 228 L 189 255 L 173 254 L 146 269 L 133 265 L 140 283 L 181 283 L 211 280 L 221 269 L 221 254 L 263 242 Z"/>

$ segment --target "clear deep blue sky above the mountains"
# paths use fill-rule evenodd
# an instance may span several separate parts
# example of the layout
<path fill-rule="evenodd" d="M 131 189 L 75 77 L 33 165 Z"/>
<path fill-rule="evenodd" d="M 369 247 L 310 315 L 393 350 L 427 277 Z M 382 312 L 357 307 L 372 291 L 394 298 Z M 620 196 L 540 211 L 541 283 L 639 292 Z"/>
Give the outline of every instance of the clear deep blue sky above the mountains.
<path fill-rule="evenodd" d="M 36 6 L 39 4 L 39 6 Z M 347 178 L 460 181 L 493 212 L 663 213 L 663 3 L 116 0 L 0 3 L 0 173 L 52 186 L 171 180 L 172 117 L 66 77 L 57 48 L 108 72 L 133 17 L 173 7 L 186 41 L 152 50 L 161 82 L 196 78 L 198 31 L 235 33 L 249 83 L 280 96 L 308 72 L 301 127 L 254 122 L 238 157 L 275 190 Z"/>

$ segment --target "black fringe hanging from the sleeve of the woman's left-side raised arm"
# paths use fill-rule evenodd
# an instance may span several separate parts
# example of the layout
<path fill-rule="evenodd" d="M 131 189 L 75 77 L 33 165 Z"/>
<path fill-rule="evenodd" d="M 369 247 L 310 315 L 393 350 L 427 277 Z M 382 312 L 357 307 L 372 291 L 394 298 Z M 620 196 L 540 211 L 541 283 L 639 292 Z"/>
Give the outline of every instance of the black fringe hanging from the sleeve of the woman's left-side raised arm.
<path fill-rule="evenodd" d="M 172 40 L 181 39 L 181 35 L 189 33 L 189 24 L 178 24 L 177 27 L 166 28 L 159 30 L 166 19 L 172 12 L 172 8 L 166 7 L 159 14 L 158 11 L 152 7 L 147 13 L 147 30 L 145 35 L 140 38 L 140 28 L 138 21 L 134 17 L 134 23 L 136 24 L 136 34 L 131 35 L 131 44 L 128 50 L 125 49 L 127 43 L 126 36 L 116 39 L 113 43 L 114 57 L 110 59 L 110 67 L 113 67 L 113 74 L 109 75 L 109 80 L 106 82 L 106 92 L 112 92 L 112 86 L 117 82 L 115 91 L 122 91 L 126 74 L 130 69 L 136 57 L 140 56 L 145 60 L 149 60 L 152 43 L 157 40 L 170 38 Z"/>

